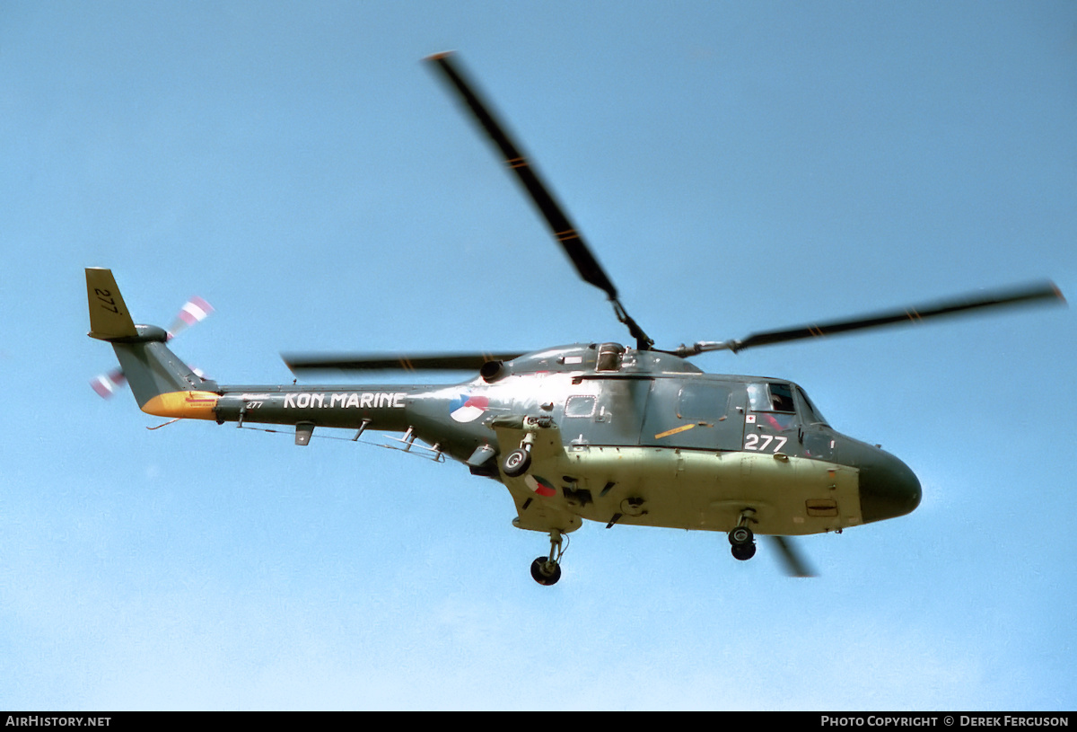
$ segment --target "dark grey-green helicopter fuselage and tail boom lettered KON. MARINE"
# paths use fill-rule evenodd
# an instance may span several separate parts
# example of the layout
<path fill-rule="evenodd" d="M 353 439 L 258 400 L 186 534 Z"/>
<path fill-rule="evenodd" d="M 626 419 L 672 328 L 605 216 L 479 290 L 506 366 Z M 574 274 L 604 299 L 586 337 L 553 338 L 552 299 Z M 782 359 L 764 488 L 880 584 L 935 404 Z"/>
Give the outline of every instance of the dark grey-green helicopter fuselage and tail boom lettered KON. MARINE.
<path fill-rule="evenodd" d="M 796 384 L 707 374 L 613 343 L 528 354 L 454 385 L 222 386 L 176 399 L 185 403 L 143 409 L 308 433 L 406 432 L 505 483 L 526 528 L 533 501 L 553 498 L 579 519 L 711 530 L 754 507 L 757 533 L 814 534 L 909 513 L 921 497 L 907 466 L 834 430 Z M 556 428 L 560 450 L 530 482 L 500 466 L 523 433 L 492 425 L 513 417 Z M 646 509 L 626 514 L 625 501 Z"/>

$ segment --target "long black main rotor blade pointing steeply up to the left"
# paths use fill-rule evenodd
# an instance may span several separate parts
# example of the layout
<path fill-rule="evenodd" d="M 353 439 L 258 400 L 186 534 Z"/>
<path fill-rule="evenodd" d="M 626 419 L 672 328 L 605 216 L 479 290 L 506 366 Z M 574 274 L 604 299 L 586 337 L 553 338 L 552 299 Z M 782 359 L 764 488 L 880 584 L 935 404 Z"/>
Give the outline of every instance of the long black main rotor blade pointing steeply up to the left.
<path fill-rule="evenodd" d="M 442 71 L 446 80 L 460 96 L 460 99 L 467 106 L 475 120 L 482 126 L 490 140 L 498 146 L 502 157 L 508 167 L 516 174 L 516 178 L 527 190 L 534 202 L 538 212 L 546 219 L 554 237 L 560 243 L 561 248 L 572 260 L 576 272 L 584 281 L 599 288 L 614 303 L 614 310 L 617 319 L 628 326 L 632 336 L 637 339 L 641 349 L 648 348 L 654 341 L 647 337 L 639 324 L 625 310 L 617 300 L 617 288 L 606 275 L 605 270 L 595 259 L 590 248 L 584 241 L 575 225 L 569 220 L 564 209 L 554 198 L 553 193 L 543 183 L 537 171 L 531 167 L 527 157 L 513 142 L 505 128 L 498 122 L 489 105 L 482 101 L 474 84 L 470 83 L 463 72 L 457 67 L 451 53 L 440 53 L 430 56 L 426 60 L 432 61 Z M 645 345 L 643 345 L 645 344 Z"/>

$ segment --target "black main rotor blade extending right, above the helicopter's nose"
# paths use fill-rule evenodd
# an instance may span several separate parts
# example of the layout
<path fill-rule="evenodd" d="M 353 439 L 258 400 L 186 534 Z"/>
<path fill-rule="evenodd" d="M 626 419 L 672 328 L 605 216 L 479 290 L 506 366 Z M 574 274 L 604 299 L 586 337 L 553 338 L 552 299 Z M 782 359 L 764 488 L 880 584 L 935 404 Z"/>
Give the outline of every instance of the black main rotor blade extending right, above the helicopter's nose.
<path fill-rule="evenodd" d="M 1051 281 L 1026 285 L 1023 287 L 995 290 L 988 293 L 976 293 L 957 298 L 954 300 L 906 307 L 901 309 L 878 313 L 876 315 L 853 318 L 851 320 L 835 320 L 825 323 L 811 326 L 800 326 L 785 330 L 765 331 L 753 333 L 742 341 L 723 342 L 700 342 L 694 346 L 681 346 L 675 351 L 679 356 L 694 356 L 709 350 L 731 350 L 737 353 L 745 348 L 756 346 L 769 346 L 775 343 L 788 343 L 805 339 L 822 337 L 824 335 L 837 335 L 856 330 L 869 328 L 881 328 L 903 322 L 920 322 L 928 318 L 953 316 L 970 313 L 973 310 L 987 309 L 992 307 L 1011 307 L 1016 305 L 1065 303 L 1059 288 Z"/>

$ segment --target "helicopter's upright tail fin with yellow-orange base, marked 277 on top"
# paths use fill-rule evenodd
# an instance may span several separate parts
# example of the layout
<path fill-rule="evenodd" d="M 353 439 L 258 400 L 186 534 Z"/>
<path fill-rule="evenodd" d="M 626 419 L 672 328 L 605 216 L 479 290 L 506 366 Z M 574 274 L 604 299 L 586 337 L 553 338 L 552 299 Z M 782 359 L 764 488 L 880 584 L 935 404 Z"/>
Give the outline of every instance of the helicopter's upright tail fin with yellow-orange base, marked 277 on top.
<path fill-rule="evenodd" d="M 88 335 L 112 344 L 139 409 L 167 417 L 212 419 L 216 382 L 195 374 L 165 342 L 156 326 L 136 326 L 111 270 L 86 270 Z"/>

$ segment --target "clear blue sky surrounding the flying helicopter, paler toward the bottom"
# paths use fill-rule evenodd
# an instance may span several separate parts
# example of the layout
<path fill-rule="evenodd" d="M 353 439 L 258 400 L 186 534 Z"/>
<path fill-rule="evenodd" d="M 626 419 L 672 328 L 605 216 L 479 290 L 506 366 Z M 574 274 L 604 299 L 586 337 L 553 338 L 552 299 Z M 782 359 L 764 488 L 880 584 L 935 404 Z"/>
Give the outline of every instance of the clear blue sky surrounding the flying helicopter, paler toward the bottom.
<path fill-rule="evenodd" d="M 0 8 L 0 707 L 1072 709 L 1074 313 L 712 354 L 920 477 L 800 541 L 587 525 L 369 445 L 100 400 L 83 267 L 223 383 L 626 340 L 420 59 L 456 49 L 660 345 L 1077 293 L 1069 2 Z M 1061 401 L 1055 401 L 1055 398 Z"/>

